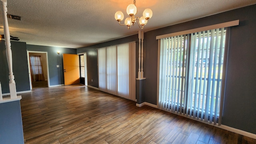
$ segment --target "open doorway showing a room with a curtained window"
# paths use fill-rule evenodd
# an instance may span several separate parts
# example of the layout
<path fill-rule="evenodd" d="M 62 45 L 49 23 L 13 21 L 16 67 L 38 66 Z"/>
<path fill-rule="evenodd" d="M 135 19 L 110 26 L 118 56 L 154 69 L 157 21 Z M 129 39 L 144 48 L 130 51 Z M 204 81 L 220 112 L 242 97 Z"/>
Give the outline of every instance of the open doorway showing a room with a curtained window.
<path fill-rule="evenodd" d="M 32 79 L 30 56 L 40 56 L 44 80 L 35 81 L 35 80 Z M 48 54 L 47 54 L 47 52 L 27 51 L 27 58 L 28 58 L 28 72 L 29 72 L 30 90 L 32 88 L 49 87 L 50 82 L 49 82 Z"/>

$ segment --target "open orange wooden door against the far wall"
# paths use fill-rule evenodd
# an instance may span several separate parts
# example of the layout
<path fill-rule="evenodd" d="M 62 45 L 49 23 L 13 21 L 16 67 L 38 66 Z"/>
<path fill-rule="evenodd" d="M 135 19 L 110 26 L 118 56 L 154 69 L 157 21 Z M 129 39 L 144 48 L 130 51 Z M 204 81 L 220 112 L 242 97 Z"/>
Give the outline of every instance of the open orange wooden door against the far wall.
<path fill-rule="evenodd" d="M 65 85 L 79 84 L 79 58 L 77 54 L 63 54 Z"/>

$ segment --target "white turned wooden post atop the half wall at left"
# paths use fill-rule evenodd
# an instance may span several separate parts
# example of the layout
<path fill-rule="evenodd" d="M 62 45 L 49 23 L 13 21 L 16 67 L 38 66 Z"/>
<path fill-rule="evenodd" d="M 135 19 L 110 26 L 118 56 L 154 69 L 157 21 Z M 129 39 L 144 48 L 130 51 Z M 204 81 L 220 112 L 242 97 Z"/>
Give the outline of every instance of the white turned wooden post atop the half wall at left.
<path fill-rule="evenodd" d="M 10 95 L 11 98 L 17 98 L 16 93 L 16 84 L 14 81 L 14 75 L 12 72 L 12 50 L 11 50 L 11 42 L 10 42 L 10 32 L 9 32 L 9 26 L 8 26 L 8 20 L 7 20 L 7 1 L 2 1 L 2 16 L 4 18 L 4 39 L 5 39 L 5 46 L 6 46 L 6 57 L 9 67 L 9 88 L 10 88 Z"/>

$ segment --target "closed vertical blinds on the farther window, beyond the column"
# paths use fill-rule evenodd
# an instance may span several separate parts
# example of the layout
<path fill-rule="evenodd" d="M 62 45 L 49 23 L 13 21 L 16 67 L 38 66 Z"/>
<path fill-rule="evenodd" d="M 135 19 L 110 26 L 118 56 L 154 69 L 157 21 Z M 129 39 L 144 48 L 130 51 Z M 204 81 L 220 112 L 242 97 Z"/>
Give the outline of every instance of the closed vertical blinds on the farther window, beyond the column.
<path fill-rule="evenodd" d="M 136 43 L 98 49 L 99 90 L 135 100 Z"/>

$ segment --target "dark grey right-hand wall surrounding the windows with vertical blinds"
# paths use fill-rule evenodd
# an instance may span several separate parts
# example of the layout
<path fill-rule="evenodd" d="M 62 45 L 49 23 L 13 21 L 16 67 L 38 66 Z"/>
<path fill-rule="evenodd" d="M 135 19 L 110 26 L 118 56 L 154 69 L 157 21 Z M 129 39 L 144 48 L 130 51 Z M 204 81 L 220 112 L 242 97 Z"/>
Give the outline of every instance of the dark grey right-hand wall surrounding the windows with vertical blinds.
<path fill-rule="evenodd" d="M 240 20 L 239 26 L 230 28 L 222 124 L 256 134 L 255 15 L 256 5 L 252 5 L 146 32 L 144 34 L 143 64 L 144 77 L 146 77 L 145 101 L 157 104 L 158 40 L 156 40 L 156 36 Z M 134 40 L 138 45 L 138 35 L 134 35 L 79 48 L 78 52 L 85 52 L 87 48 L 101 48 Z M 138 56 L 136 56 L 136 63 L 138 63 Z M 94 72 L 96 72 L 96 67 L 96 62 L 94 62 Z"/>

